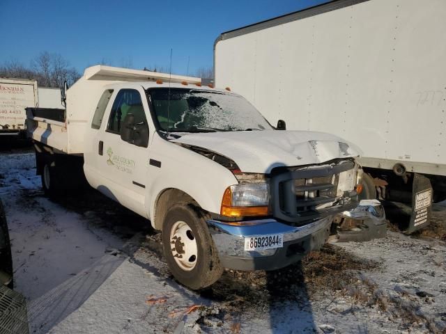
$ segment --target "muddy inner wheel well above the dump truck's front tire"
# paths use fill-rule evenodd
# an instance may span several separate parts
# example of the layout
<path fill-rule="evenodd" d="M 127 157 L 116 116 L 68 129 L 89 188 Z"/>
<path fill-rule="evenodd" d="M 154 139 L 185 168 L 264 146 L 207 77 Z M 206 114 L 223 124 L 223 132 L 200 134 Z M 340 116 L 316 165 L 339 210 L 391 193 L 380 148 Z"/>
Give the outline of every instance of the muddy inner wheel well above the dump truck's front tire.
<path fill-rule="evenodd" d="M 162 230 L 162 223 L 164 222 L 164 217 L 171 207 L 179 203 L 197 202 L 187 193 L 175 188 L 164 189 L 155 203 L 155 215 L 153 227 L 155 230 Z M 198 204 L 197 204 L 198 206 Z"/>

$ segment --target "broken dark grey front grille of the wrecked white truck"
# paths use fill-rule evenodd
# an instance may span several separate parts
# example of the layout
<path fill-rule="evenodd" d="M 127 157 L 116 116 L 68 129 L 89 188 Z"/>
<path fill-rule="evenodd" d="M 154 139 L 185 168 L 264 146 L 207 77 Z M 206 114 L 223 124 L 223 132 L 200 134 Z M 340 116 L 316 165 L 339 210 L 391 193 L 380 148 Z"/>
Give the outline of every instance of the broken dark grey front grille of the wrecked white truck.
<path fill-rule="evenodd" d="M 324 166 L 277 170 L 270 179 L 273 216 L 304 223 L 353 209 L 356 191 L 338 191 L 339 173 L 353 168 L 353 161 L 340 160 Z"/>

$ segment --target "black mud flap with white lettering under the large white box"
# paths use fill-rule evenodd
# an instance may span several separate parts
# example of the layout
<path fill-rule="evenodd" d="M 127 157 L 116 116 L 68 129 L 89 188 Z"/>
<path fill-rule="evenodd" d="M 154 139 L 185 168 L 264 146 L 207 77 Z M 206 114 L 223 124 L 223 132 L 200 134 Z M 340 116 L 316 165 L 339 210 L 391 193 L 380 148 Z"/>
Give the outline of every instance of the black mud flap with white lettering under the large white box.
<path fill-rule="evenodd" d="M 432 185 L 424 175 L 415 173 L 412 186 L 412 212 L 406 233 L 425 228 L 431 221 Z"/>

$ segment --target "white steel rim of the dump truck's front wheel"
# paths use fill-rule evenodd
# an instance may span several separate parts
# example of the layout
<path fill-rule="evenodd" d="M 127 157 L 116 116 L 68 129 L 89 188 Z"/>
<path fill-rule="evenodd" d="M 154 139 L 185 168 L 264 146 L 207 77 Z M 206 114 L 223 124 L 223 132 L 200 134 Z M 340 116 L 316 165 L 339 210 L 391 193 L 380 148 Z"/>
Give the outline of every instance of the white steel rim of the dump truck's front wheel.
<path fill-rule="evenodd" d="M 170 247 L 178 267 L 184 271 L 191 271 L 197 264 L 197 240 L 187 223 L 177 221 L 170 231 Z"/>

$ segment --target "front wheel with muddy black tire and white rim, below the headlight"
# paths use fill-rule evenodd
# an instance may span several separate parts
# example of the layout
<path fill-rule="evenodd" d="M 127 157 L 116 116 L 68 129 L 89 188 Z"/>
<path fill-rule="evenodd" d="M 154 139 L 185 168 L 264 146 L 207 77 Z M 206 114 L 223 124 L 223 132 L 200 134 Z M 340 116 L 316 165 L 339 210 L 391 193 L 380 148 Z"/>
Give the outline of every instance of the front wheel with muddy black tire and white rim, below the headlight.
<path fill-rule="evenodd" d="M 217 248 L 203 212 L 196 206 L 178 205 L 167 212 L 162 226 L 162 246 L 172 274 L 186 287 L 202 289 L 222 276 Z"/>

